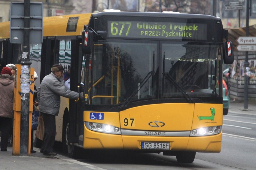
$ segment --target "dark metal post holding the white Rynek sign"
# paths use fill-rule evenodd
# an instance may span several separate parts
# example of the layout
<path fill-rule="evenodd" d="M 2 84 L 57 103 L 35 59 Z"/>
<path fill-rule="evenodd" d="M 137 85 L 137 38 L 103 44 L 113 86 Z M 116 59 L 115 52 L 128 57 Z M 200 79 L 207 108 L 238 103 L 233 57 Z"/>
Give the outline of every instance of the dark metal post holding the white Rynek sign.
<path fill-rule="evenodd" d="M 246 1 L 246 36 L 249 36 L 249 3 L 250 1 Z M 245 82 L 245 92 L 244 92 L 244 110 L 248 110 L 248 85 L 249 85 L 249 77 L 246 74 L 246 67 L 249 67 L 248 62 L 248 51 L 245 52 L 245 64 L 244 64 L 244 82 Z"/>

